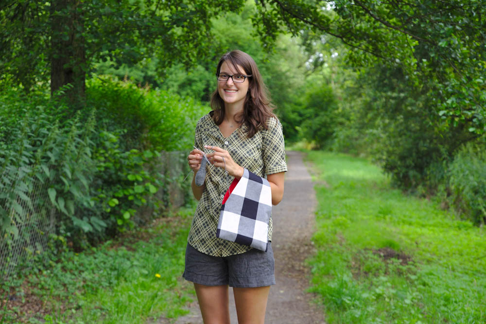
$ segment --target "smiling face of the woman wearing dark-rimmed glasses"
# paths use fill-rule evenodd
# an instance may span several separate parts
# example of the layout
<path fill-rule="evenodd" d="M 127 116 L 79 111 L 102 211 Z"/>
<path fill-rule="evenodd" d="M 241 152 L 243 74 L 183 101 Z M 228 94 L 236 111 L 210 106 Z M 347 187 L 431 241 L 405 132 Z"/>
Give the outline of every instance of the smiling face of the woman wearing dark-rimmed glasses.
<path fill-rule="evenodd" d="M 236 68 L 238 68 L 238 70 L 227 64 L 225 61 L 221 65 L 219 73 L 224 73 L 228 75 L 247 75 L 246 71 L 241 66 L 237 65 Z M 248 78 L 245 78 L 244 82 L 242 83 L 233 82 L 232 78 L 228 78 L 228 80 L 226 81 L 218 81 L 218 93 L 221 99 L 223 99 L 223 101 L 228 104 L 241 103 L 242 107 L 246 98 L 246 93 L 248 92 L 248 87 Z"/>

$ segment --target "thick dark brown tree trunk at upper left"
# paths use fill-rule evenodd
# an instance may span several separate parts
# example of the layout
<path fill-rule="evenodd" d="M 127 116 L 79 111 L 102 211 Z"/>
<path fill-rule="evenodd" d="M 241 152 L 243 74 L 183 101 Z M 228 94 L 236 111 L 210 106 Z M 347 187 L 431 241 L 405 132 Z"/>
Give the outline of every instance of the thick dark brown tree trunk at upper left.
<path fill-rule="evenodd" d="M 85 102 L 86 48 L 80 0 L 51 2 L 51 95 L 59 88 L 75 110 Z"/>

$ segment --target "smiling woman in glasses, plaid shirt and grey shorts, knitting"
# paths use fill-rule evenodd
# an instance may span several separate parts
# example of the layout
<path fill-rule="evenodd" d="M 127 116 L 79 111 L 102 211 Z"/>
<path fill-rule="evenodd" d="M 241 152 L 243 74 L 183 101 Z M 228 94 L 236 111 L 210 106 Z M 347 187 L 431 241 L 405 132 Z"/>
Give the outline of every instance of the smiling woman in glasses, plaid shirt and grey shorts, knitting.
<path fill-rule="evenodd" d="M 255 61 L 243 51 L 223 55 L 216 69 L 217 89 L 211 111 L 195 130 L 188 156 L 194 174 L 203 154 L 209 165 L 205 182 L 198 187 L 199 201 L 186 248 L 184 278 L 194 283 L 204 323 L 229 323 L 228 285 L 233 287 L 238 323 L 264 323 L 270 285 L 275 284 L 269 222 L 267 250 L 219 239 L 216 228 L 222 200 L 233 179 L 244 169 L 270 184 L 272 204 L 283 196 L 285 149 L 282 126 L 272 113 L 266 88 Z"/>

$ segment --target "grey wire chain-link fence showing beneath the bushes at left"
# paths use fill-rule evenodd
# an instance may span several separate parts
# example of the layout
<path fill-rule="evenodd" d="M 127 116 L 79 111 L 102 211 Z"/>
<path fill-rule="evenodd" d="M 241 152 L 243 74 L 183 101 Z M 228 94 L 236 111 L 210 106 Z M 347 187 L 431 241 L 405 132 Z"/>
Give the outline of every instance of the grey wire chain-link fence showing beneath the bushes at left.
<path fill-rule="evenodd" d="M 150 172 L 162 174 L 164 178 L 163 185 L 156 193 L 155 199 L 171 209 L 184 205 L 191 187 L 191 176 L 188 176 L 184 182 L 182 181 L 190 171 L 185 163 L 186 156 L 187 152 L 162 152 L 156 167 L 150 170 Z M 21 172 L 18 173 L 21 174 Z M 17 181 L 21 177 L 19 174 L 15 181 L 12 181 L 12 185 L 2 184 L 0 186 L 0 197 L 15 191 L 12 186 L 20 183 Z M 37 178 L 33 178 L 28 186 L 29 190 L 23 191 L 27 198 L 17 197 L 13 200 L 20 205 L 20 208 L 14 206 L 15 203 L 1 206 L 8 212 L 10 225 L 14 225 L 13 227 L 17 228 L 18 233 L 6 230 L 0 233 L 0 280 L 5 280 L 18 269 L 29 267 L 34 256 L 45 251 L 49 234 L 55 231 L 57 217 L 57 212 L 49 201 L 47 191 L 49 186 L 48 182 L 42 183 Z M 19 211 L 21 212 L 19 213 Z M 153 212 L 154 210 L 151 208 L 141 207 L 134 221 L 139 224 L 147 223 L 154 217 Z"/>

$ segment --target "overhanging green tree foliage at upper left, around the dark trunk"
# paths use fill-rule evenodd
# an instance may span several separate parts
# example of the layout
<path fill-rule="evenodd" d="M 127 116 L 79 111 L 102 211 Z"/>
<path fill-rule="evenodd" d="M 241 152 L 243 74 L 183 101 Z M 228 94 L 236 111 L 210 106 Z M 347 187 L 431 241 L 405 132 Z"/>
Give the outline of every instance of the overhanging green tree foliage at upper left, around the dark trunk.
<path fill-rule="evenodd" d="M 161 74 L 174 62 L 206 57 L 210 18 L 239 11 L 243 1 L 52 0 L 4 1 L 0 7 L 1 78 L 14 76 L 27 91 L 47 82 L 71 84 L 82 102 L 91 64 L 139 62 L 154 54 Z"/>

